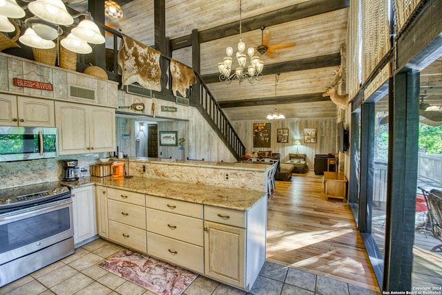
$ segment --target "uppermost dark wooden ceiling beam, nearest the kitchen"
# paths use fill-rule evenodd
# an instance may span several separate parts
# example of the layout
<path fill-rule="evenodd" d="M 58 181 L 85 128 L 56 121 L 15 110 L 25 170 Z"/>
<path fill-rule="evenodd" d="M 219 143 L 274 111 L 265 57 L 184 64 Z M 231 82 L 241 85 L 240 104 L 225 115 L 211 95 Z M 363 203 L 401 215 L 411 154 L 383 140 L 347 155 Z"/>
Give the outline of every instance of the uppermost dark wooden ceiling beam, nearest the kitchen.
<path fill-rule="evenodd" d="M 262 15 L 256 15 L 247 19 L 242 19 L 242 32 L 251 30 L 259 30 L 261 26 L 275 26 L 280 23 L 296 21 L 306 17 L 322 15 L 323 13 L 332 12 L 349 7 L 349 0 L 311 0 L 298 3 L 286 8 L 273 10 Z M 227 23 L 222 26 L 202 30 L 199 32 L 200 44 L 213 41 L 216 39 L 238 35 L 240 33 L 240 21 Z M 191 46 L 191 35 L 183 36 L 171 40 L 172 50 Z"/>

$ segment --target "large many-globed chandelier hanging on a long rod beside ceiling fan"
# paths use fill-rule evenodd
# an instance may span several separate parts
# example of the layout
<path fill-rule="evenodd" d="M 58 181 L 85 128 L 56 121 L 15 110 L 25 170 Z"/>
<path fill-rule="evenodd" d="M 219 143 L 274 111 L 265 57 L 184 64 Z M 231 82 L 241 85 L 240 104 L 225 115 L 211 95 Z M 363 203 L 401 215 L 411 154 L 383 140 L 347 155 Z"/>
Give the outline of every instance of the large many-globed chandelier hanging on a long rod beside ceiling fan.
<path fill-rule="evenodd" d="M 242 19 L 241 19 L 241 0 L 240 0 L 240 42 L 238 43 L 238 52 L 236 53 L 236 59 L 238 60 L 238 68 L 231 73 L 233 48 L 227 47 L 227 57 L 224 57 L 224 61 L 218 63 L 218 70 L 220 71 L 220 81 L 230 84 L 233 80 L 238 80 L 240 83 L 245 79 L 249 83 L 259 81 L 262 79 L 262 68 L 264 68 L 264 62 L 259 57 L 253 56 L 255 54 L 255 48 L 247 48 L 247 55 L 249 55 L 251 65 L 244 70 L 247 62 L 247 56 L 243 53 L 246 44 L 242 41 Z"/>

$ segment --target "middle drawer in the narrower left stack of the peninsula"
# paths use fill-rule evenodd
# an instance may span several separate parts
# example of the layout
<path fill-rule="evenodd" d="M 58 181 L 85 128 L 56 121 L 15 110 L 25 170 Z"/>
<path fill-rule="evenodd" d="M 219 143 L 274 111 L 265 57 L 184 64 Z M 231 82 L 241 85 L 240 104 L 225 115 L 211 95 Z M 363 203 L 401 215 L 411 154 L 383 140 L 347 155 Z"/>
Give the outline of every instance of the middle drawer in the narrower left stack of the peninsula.
<path fill-rule="evenodd" d="M 109 219 L 140 229 L 146 229 L 144 207 L 115 200 L 108 200 Z"/>

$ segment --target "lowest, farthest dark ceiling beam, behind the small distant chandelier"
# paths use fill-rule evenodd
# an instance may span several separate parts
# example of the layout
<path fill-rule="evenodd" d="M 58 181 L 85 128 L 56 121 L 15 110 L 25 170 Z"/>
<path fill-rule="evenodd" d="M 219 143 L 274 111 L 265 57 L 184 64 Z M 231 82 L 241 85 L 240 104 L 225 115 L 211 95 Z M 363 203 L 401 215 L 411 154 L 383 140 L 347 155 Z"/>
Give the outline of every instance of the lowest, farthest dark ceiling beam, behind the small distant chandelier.
<path fill-rule="evenodd" d="M 327 102 L 330 97 L 323 93 L 307 93 L 300 95 L 285 95 L 278 97 L 258 97 L 253 99 L 225 100 L 218 102 L 221 108 L 239 108 L 242 106 L 269 106 L 273 104 L 297 104 L 302 102 Z"/>

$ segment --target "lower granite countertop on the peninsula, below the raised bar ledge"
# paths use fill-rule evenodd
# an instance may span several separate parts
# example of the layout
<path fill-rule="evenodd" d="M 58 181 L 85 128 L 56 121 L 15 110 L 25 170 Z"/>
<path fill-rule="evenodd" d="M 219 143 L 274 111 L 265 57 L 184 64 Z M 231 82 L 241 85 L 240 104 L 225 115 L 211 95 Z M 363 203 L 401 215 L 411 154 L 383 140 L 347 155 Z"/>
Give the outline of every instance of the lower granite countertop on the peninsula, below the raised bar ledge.
<path fill-rule="evenodd" d="M 247 211 L 261 198 L 267 197 L 262 191 L 251 191 L 246 189 L 230 189 L 227 187 L 215 187 L 205 184 L 190 182 L 175 182 L 155 178 L 142 178 L 133 176 L 131 178 L 113 178 L 106 176 L 83 177 L 74 182 L 62 182 L 68 187 L 83 187 L 91 184 L 99 184 L 114 189 L 124 189 L 145 193 L 151 196 L 171 198 L 198 204 L 212 205 L 227 209 Z"/>

